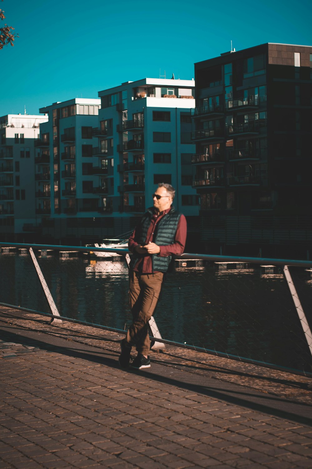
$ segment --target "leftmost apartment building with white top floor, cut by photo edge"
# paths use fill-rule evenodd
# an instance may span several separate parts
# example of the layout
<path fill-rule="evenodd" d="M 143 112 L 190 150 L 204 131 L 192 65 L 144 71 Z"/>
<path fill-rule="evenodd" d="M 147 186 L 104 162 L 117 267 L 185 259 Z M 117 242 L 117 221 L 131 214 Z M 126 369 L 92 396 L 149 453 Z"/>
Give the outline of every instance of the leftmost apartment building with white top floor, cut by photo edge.
<path fill-rule="evenodd" d="M 0 236 L 2 241 L 32 240 L 36 226 L 35 146 L 47 116 L 0 117 Z"/>

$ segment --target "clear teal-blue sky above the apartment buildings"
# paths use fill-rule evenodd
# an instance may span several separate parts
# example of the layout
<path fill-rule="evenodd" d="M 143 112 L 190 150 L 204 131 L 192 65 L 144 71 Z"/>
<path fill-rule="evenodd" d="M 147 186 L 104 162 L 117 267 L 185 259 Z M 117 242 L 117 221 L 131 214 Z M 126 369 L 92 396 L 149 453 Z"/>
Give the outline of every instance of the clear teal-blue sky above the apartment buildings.
<path fill-rule="evenodd" d="M 312 45 L 311 1 L 4 0 L 0 116 L 145 76 L 191 79 L 194 62 L 266 42 Z M 3 22 L 1 22 L 3 23 Z"/>

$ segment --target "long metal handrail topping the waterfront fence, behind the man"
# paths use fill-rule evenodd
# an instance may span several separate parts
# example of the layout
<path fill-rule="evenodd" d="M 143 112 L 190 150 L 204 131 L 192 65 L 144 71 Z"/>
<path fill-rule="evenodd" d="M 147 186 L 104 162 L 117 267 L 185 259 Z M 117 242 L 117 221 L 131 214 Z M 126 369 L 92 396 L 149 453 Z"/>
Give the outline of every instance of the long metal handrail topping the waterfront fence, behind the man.
<path fill-rule="evenodd" d="M 116 252 L 120 254 L 129 254 L 130 251 L 124 248 L 96 248 L 89 246 L 62 246 L 54 244 L 27 244 L 27 243 L 14 243 L 14 242 L 1 242 L 0 247 L 16 247 L 16 248 L 35 248 L 35 249 L 55 249 L 67 251 L 100 251 L 100 252 Z M 220 256 L 216 254 L 196 254 L 185 252 L 176 258 L 186 259 L 202 259 L 205 261 L 217 262 L 246 262 L 250 264 L 276 264 L 276 265 L 292 265 L 297 267 L 312 267 L 312 260 L 305 261 L 300 259 L 276 259 L 273 257 L 245 257 L 245 256 Z"/>

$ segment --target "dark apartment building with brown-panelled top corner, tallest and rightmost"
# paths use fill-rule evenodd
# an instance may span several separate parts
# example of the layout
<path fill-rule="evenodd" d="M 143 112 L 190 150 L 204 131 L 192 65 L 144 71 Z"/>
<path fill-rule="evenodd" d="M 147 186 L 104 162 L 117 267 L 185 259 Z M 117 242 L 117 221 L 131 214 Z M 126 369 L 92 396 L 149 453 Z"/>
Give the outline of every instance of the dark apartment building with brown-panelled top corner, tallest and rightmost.
<path fill-rule="evenodd" d="M 312 46 L 262 44 L 195 64 L 193 188 L 202 249 L 309 256 Z"/>

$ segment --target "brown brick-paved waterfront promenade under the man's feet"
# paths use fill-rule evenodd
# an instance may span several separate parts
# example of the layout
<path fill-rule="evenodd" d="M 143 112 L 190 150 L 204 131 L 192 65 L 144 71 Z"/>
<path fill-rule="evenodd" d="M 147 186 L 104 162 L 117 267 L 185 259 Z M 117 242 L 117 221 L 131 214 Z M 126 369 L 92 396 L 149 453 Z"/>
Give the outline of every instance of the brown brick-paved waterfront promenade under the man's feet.
<path fill-rule="evenodd" d="M 0 469 L 312 468 L 311 379 L 0 307 Z"/>

